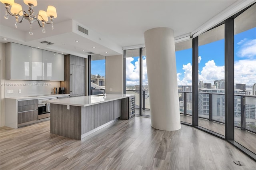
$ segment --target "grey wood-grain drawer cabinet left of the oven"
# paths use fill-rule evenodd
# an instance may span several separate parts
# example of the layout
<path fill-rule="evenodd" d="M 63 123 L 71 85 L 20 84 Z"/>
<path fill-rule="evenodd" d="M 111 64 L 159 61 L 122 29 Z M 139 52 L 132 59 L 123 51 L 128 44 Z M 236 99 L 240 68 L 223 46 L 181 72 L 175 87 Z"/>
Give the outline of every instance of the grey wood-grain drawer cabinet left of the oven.
<path fill-rule="evenodd" d="M 18 127 L 22 123 L 38 120 L 38 100 L 18 101 Z"/>

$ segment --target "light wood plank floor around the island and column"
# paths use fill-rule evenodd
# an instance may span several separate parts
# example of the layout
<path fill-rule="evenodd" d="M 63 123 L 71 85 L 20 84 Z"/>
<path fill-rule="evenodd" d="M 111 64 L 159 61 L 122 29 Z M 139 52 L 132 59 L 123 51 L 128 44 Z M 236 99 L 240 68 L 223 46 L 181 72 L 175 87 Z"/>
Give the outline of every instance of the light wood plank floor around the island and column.
<path fill-rule="evenodd" d="M 0 130 L 0 169 L 253 170 L 231 144 L 193 127 L 164 131 L 150 119 L 118 120 L 80 140 L 50 134 L 50 121 Z M 238 166 L 234 160 L 244 162 Z"/>

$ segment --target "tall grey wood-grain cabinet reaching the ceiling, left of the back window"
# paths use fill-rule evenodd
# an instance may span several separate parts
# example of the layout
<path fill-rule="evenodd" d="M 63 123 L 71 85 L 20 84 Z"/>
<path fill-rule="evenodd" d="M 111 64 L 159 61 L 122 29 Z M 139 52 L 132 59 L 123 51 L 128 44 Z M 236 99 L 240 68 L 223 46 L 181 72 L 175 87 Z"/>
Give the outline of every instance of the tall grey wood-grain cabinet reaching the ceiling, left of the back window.
<path fill-rule="evenodd" d="M 60 82 L 70 97 L 85 95 L 85 59 L 74 55 L 65 55 L 65 81 Z"/>

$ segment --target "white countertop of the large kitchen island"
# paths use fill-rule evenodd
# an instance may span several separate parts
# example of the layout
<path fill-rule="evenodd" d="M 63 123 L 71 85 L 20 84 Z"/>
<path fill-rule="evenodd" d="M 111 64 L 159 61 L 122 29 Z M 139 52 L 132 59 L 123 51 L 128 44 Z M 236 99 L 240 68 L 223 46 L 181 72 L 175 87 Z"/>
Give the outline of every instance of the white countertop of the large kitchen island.
<path fill-rule="evenodd" d="M 44 101 L 45 103 L 58 104 L 58 105 L 70 105 L 70 106 L 90 106 L 95 104 L 100 104 L 108 101 L 114 101 L 118 99 L 124 99 L 126 97 L 130 97 L 134 95 L 118 95 L 118 94 L 106 94 L 102 95 L 92 95 L 92 96 L 80 96 L 80 97 L 70 97 L 65 99 L 56 99 L 56 100 L 48 100 Z"/>

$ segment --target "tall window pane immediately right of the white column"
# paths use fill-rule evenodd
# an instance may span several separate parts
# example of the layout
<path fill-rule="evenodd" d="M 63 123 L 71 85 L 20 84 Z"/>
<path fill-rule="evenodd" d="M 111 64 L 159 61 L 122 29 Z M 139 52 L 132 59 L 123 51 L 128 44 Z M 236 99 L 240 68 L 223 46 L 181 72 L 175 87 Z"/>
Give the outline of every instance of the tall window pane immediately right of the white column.
<path fill-rule="evenodd" d="M 180 121 L 192 124 L 192 39 L 175 44 Z"/>

